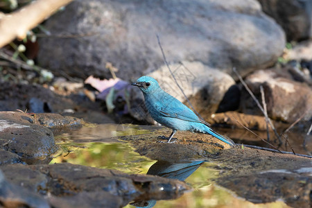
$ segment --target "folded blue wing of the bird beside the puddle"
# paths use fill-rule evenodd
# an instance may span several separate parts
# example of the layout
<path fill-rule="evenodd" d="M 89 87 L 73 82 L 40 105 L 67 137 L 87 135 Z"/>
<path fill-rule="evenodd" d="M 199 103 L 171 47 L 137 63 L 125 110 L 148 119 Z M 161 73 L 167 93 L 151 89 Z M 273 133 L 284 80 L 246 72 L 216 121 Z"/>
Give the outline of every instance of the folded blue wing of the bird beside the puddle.
<path fill-rule="evenodd" d="M 166 106 L 159 107 L 159 112 L 162 114 L 162 116 L 181 119 L 184 121 L 204 123 L 208 126 L 210 125 L 206 121 L 198 118 L 198 116 L 191 109 L 189 109 L 189 107 L 180 101 L 173 101 Z"/>

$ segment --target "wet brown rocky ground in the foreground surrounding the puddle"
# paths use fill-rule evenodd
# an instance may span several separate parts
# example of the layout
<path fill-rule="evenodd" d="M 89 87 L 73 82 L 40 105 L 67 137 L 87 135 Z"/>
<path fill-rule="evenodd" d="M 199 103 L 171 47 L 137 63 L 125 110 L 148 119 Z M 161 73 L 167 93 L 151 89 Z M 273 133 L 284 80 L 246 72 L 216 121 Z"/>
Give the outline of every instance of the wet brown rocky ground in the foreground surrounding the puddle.
<path fill-rule="evenodd" d="M 219 172 L 216 184 L 246 200 L 257 203 L 283 198 L 290 206 L 311 205 L 311 157 L 230 147 L 214 137 L 191 132 L 178 132 L 179 139 L 173 144 L 161 143 L 157 135 L 167 135 L 170 130 L 155 128 L 111 138 L 128 142 L 140 155 L 159 161 L 150 167 L 150 175 L 128 175 L 68 163 L 48 165 L 58 152 L 53 132 L 77 130 L 84 124 L 81 119 L 1 112 L 0 121 L 0 202 L 5 207 L 123 207 L 131 201 L 138 205 L 178 198 L 191 189 L 181 180 L 205 161 Z M 179 166 L 184 171 L 188 166 L 195 168 L 187 175 L 165 174 L 179 171 Z"/>

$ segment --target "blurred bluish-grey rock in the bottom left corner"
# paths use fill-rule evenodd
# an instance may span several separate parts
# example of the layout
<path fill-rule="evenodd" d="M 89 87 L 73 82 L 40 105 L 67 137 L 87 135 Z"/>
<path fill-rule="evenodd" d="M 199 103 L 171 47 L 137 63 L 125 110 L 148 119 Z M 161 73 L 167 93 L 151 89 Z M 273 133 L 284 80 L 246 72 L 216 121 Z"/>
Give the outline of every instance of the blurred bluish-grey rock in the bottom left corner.
<path fill-rule="evenodd" d="M 49 203 L 37 193 L 28 191 L 27 189 L 15 184 L 11 184 L 6 180 L 0 171 L 0 204 L 3 207 L 34 207 L 49 208 Z M 1 207 L 2 207 L 1 206 Z"/>

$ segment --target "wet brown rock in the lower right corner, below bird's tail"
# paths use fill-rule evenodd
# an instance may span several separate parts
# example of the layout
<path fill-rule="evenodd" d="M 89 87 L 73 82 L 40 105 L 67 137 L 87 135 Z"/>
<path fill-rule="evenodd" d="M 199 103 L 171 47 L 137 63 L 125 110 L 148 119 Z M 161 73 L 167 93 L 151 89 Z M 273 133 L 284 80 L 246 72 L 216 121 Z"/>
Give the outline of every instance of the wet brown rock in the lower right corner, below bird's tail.
<path fill-rule="evenodd" d="M 213 161 L 215 182 L 254 203 L 281 198 L 291 207 L 311 207 L 311 158 L 251 148 L 224 150 Z"/>

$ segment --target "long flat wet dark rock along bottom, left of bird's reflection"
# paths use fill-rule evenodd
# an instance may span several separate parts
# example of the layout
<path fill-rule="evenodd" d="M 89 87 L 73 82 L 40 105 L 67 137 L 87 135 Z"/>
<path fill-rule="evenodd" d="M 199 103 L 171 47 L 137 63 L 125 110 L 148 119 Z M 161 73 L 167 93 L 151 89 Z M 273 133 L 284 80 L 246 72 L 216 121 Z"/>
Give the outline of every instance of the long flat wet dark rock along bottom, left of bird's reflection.
<path fill-rule="evenodd" d="M 14 186 L 39 192 L 42 199 L 49 192 L 46 198 L 53 207 L 122 207 L 137 199 L 177 198 L 190 189 L 179 180 L 73 164 L 6 165 L 0 169 Z"/>

